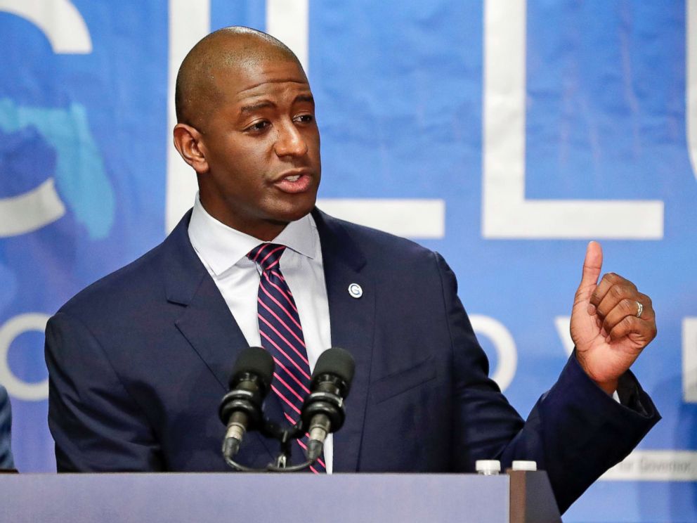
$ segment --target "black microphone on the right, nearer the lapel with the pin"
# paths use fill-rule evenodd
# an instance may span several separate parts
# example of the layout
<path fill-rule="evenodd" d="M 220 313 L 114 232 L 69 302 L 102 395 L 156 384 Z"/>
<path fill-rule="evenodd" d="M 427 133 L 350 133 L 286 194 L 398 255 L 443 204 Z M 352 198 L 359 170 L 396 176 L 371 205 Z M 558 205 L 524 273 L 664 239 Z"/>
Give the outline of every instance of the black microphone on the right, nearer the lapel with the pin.
<path fill-rule="evenodd" d="M 344 399 L 351 389 L 355 368 L 353 356 L 344 349 L 332 347 L 320 354 L 310 381 L 311 393 L 305 399 L 301 413 L 303 425 L 308 427 L 310 434 L 308 460 L 319 458 L 327 434 L 344 425 Z"/>

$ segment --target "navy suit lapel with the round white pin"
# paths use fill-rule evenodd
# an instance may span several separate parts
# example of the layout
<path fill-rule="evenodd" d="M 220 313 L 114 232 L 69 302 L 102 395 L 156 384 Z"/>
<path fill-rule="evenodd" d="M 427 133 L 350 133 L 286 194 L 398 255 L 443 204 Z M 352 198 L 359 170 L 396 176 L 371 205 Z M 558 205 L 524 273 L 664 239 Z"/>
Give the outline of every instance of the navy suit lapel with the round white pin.
<path fill-rule="evenodd" d="M 363 268 L 365 257 L 336 219 L 318 209 L 313 211 L 322 245 L 322 258 L 327 285 L 332 346 L 353 354 L 356 374 L 346 399 L 346 422 L 334 433 L 334 470 L 358 470 L 363 420 L 370 382 L 375 314 L 375 286 Z M 363 294 L 356 298 L 348 292 L 352 283 L 360 285 Z"/>

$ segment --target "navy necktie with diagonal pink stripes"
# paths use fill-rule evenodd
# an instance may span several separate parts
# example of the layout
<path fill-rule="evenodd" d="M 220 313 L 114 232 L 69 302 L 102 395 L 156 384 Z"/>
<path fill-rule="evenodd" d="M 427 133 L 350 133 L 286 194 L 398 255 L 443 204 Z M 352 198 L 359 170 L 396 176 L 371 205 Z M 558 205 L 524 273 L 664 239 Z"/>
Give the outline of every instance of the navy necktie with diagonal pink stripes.
<path fill-rule="evenodd" d="M 310 364 L 293 293 L 280 270 L 279 260 L 284 251 L 285 245 L 262 243 L 247 257 L 261 268 L 257 316 L 261 346 L 276 363 L 271 389 L 280 399 L 285 418 L 292 425 L 299 420 L 300 408 L 310 393 Z M 305 441 L 297 441 L 305 450 Z M 316 473 L 326 472 L 321 458 L 311 469 Z"/>

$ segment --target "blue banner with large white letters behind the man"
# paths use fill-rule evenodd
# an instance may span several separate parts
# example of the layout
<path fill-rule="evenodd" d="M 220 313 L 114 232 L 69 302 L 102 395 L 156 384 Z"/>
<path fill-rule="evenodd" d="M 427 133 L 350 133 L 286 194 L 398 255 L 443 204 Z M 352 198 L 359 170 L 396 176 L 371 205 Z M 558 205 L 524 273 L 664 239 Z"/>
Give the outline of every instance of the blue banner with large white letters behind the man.
<path fill-rule="evenodd" d="M 174 78 L 247 25 L 306 67 L 318 206 L 441 252 L 526 415 L 573 347 L 585 246 L 653 299 L 663 415 L 565 521 L 697 520 L 697 0 L 0 0 L 0 383 L 20 472 L 56 470 L 44 327 L 193 205 Z M 582 458 L 582 457 L 580 457 Z"/>

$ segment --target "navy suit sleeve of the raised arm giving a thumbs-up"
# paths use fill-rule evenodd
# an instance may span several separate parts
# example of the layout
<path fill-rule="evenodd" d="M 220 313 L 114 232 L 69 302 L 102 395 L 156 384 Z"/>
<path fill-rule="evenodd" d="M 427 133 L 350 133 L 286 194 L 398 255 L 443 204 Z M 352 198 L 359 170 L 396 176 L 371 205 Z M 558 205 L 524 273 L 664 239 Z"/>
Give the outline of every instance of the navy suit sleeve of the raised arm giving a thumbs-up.
<path fill-rule="evenodd" d="M 595 385 L 571 356 L 523 422 L 488 378 L 488 361 L 457 297 L 455 275 L 439 254 L 436 258 L 453 350 L 453 459 L 460 470 L 469 471 L 477 459 L 499 459 L 502 467 L 515 459 L 535 460 L 538 469 L 547 471 L 564 512 L 658 422 L 656 407 L 632 373 L 623 376 L 625 388 L 635 392 L 634 401 L 625 406 Z"/>

